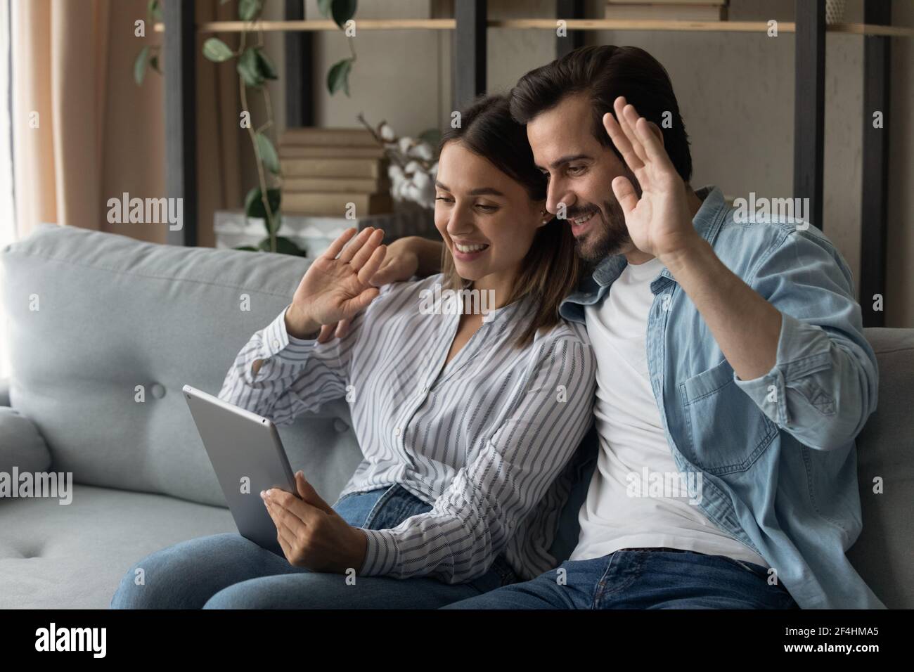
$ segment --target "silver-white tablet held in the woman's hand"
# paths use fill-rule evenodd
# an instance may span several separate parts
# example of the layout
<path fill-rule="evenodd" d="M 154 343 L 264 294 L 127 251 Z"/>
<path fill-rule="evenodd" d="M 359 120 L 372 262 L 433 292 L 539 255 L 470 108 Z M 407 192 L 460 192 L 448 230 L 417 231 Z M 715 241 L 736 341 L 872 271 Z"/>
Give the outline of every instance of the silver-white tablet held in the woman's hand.
<path fill-rule="evenodd" d="M 189 385 L 184 396 L 239 533 L 284 558 L 276 525 L 260 498 L 260 491 L 271 487 L 296 491 L 276 426 Z"/>

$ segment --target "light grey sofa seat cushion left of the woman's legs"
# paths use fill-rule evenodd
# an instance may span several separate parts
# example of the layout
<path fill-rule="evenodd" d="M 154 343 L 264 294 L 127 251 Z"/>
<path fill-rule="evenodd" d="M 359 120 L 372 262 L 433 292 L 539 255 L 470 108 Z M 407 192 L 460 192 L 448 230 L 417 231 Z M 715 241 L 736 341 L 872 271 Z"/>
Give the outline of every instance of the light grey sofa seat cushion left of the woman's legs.
<path fill-rule="evenodd" d="M 235 532 L 228 508 L 73 485 L 57 499 L 0 500 L 0 609 L 107 609 L 133 564 L 179 541 Z"/>

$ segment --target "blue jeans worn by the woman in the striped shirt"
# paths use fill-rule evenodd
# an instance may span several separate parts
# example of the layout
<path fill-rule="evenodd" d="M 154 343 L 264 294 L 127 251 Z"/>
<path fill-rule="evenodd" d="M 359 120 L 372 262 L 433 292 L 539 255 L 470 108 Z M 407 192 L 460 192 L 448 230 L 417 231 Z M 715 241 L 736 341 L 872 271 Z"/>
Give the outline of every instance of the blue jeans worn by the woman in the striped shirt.
<path fill-rule="evenodd" d="M 388 529 L 431 509 L 400 485 L 350 493 L 334 509 L 358 528 Z M 137 585 L 137 570 L 143 582 Z M 238 533 L 183 541 L 137 562 L 112 597 L 112 609 L 437 609 L 516 581 L 504 556 L 466 583 L 356 576 L 293 567 Z"/>

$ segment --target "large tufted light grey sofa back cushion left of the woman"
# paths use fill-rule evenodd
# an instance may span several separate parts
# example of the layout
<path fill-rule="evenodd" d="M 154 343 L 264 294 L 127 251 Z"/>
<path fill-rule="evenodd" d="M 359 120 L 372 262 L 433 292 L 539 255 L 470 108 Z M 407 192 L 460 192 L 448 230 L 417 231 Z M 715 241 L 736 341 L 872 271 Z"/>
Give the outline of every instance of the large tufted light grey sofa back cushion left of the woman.
<path fill-rule="evenodd" d="M 218 394 L 307 265 L 42 224 L 0 251 L 13 406 L 77 483 L 224 506 L 181 389 Z M 345 401 L 280 434 L 292 469 L 333 501 L 361 459 Z"/>

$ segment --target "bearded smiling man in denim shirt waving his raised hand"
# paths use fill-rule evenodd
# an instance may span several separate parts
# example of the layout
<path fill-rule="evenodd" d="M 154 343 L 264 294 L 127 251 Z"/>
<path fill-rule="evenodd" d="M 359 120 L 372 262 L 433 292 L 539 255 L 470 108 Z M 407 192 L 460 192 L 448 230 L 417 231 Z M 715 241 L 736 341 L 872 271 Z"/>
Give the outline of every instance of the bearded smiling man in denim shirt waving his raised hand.
<path fill-rule="evenodd" d="M 569 560 L 448 608 L 881 607 L 845 557 L 877 363 L 840 253 L 693 190 L 672 84 L 643 49 L 532 70 L 511 112 L 592 266 L 560 313 L 597 355 L 600 451 Z"/>

